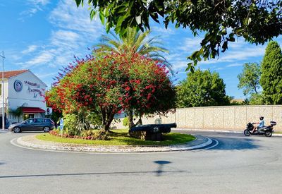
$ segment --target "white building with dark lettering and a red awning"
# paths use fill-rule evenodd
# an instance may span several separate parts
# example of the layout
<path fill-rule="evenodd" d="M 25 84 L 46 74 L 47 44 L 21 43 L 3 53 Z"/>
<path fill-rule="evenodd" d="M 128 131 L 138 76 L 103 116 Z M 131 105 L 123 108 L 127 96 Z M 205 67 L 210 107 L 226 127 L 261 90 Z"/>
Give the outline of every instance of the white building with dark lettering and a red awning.
<path fill-rule="evenodd" d="M 1 75 L 2 72 L 0 72 L 0 78 Z M 4 91 L 4 110 L 6 121 L 9 123 L 44 117 L 46 110 L 44 94 L 47 85 L 31 71 L 4 71 L 4 87 L 1 85 L 0 88 L 0 107 L 3 106 L 2 91 Z M 15 111 L 19 107 L 23 114 L 16 116 Z M 1 109 L 0 114 L 2 115 Z"/>

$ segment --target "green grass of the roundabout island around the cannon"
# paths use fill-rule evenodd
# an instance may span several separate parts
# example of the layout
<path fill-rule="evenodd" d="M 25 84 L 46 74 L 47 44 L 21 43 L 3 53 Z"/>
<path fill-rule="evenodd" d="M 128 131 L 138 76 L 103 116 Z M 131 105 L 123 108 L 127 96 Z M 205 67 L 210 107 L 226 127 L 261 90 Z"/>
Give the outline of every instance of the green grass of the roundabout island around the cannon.
<path fill-rule="evenodd" d="M 60 138 L 49 133 L 43 133 L 36 136 L 39 140 L 53 141 L 57 143 L 75 143 L 87 145 L 173 145 L 187 143 L 195 140 L 192 135 L 181 133 L 164 134 L 163 141 L 145 141 L 128 137 L 128 130 L 111 130 L 109 140 L 82 140 L 75 138 Z"/>

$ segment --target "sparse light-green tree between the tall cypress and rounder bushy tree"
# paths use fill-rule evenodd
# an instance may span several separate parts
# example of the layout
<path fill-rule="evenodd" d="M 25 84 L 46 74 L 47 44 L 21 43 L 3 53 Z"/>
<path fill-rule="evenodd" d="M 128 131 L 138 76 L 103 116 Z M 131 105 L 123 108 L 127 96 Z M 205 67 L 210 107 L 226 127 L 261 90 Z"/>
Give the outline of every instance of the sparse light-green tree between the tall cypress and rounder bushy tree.
<path fill-rule="evenodd" d="M 244 95 L 257 94 L 259 89 L 259 79 L 261 75 L 260 66 L 258 63 L 245 63 L 243 72 L 237 77 L 239 79 L 238 88 L 243 88 Z"/>

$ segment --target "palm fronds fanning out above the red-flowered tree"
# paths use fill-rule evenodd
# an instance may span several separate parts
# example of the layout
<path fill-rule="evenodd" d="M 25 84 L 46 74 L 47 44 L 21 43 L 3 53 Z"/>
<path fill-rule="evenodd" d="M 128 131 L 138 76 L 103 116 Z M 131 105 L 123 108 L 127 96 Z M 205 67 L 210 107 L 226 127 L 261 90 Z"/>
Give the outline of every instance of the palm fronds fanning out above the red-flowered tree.
<path fill-rule="evenodd" d="M 156 61 L 163 63 L 170 71 L 171 63 L 169 63 L 160 53 L 168 53 L 168 50 L 161 47 L 162 42 L 157 40 L 157 37 L 147 38 L 150 31 L 138 32 L 135 28 L 128 28 L 125 37 L 118 38 L 114 32 L 109 32 L 111 36 L 102 35 L 100 43 L 96 44 L 96 51 L 110 53 L 112 51 L 118 54 L 123 53 L 138 53 L 142 56 L 147 56 Z"/>

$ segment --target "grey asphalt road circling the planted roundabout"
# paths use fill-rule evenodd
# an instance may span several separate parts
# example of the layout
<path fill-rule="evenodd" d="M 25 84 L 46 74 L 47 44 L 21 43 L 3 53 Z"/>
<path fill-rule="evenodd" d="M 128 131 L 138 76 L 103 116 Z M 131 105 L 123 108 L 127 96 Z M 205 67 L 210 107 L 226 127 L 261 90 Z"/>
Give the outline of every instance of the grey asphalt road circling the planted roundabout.
<path fill-rule="evenodd" d="M 281 193 L 282 138 L 183 131 L 219 141 L 184 152 L 28 150 L 0 133 L 0 193 Z"/>

